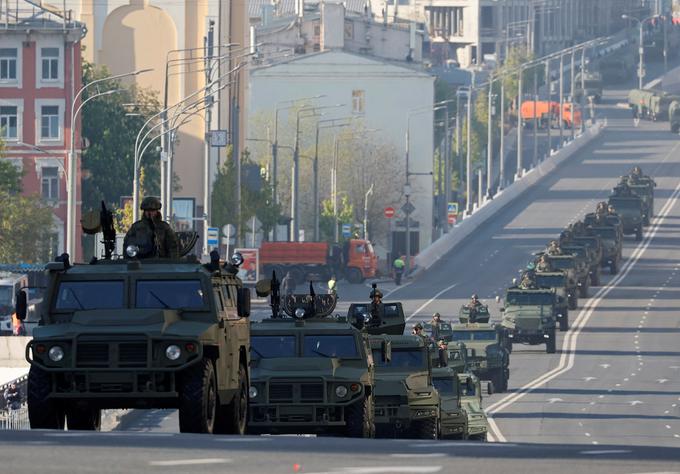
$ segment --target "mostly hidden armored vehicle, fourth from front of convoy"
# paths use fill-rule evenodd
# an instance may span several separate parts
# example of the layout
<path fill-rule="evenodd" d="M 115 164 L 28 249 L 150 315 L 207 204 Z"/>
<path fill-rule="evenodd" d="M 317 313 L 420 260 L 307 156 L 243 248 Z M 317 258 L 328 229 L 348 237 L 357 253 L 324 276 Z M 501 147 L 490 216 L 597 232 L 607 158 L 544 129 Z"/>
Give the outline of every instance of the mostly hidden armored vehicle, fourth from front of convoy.
<path fill-rule="evenodd" d="M 461 402 L 458 372 L 450 367 L 432 369 L 432 384 L 441 400 L 441 439 L 467 439 L 468 414 Z"/>

